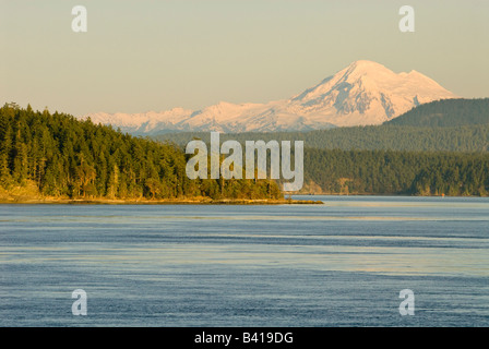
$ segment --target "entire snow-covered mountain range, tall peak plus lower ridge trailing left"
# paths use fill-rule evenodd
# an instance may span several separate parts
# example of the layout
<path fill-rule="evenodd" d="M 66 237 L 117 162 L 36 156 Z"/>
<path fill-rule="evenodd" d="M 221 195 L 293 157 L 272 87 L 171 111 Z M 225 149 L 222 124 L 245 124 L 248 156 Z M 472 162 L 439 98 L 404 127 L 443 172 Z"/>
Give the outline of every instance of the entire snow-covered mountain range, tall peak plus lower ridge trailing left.
<path fill-rule="evenodd" d="M 380 124 L 432 100 L 456 98 L 417 71 L 394 73 L 372 61 L 356 61 L 318 85 L 288 99 L 267 104 L 222 101 L 201 110 L 105 113 L 82 117 L 123 132 L 271 132 Z"/>

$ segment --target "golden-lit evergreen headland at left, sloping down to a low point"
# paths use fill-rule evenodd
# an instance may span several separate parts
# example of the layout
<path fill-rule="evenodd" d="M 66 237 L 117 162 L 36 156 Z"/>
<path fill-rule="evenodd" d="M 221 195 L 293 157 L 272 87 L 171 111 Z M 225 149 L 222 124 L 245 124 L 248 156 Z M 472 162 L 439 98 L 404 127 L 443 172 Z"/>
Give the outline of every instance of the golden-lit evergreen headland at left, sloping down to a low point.
<path fill-rule="evenodd" d="M 67 197 L 278 198 L 273 181 L 189 180 L 186 154 L 64 113 L 0 109 L 0 186 Z"/>

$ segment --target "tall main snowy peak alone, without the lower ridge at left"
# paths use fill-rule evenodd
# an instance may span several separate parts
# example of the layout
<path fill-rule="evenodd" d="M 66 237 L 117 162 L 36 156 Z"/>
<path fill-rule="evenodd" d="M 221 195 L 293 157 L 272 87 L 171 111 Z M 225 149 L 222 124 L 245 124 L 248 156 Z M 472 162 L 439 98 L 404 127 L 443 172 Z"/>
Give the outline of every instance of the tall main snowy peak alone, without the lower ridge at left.
<path fill-rule="evenodd" d="M 294 97 L 289 112 L 337 127 L 380 124 L 420 104 L 456 97 L 416 72 L 396 74 L 382 64 L 356 61 Z"/>

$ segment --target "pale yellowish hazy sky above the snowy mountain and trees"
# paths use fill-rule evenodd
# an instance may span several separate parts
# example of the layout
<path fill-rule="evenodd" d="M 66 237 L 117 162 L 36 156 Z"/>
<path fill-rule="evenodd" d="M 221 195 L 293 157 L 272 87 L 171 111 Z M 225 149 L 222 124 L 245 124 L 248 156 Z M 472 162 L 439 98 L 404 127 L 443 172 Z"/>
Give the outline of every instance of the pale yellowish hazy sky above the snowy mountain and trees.
<path fill-rule="evenodd" d="M 398 10 L 415 9 L 415 33 Z M 71 28 L 87 9 L 87 33 Z M 489 97 L 489 1 L 0 0 L 0 103 L 75 116 L 288 98 L 359 59 Z"/>

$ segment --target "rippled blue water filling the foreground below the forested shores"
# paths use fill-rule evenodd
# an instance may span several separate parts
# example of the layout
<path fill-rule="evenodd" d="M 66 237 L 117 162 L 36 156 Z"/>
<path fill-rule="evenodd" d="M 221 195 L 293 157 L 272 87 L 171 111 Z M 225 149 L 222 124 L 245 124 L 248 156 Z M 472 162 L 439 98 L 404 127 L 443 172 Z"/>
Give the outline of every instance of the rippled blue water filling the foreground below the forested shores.
<path fill-rule="evenodd" d="M 307 197 L 0 205 L 0 326 L 489 325 L 488 198 Z"/>

